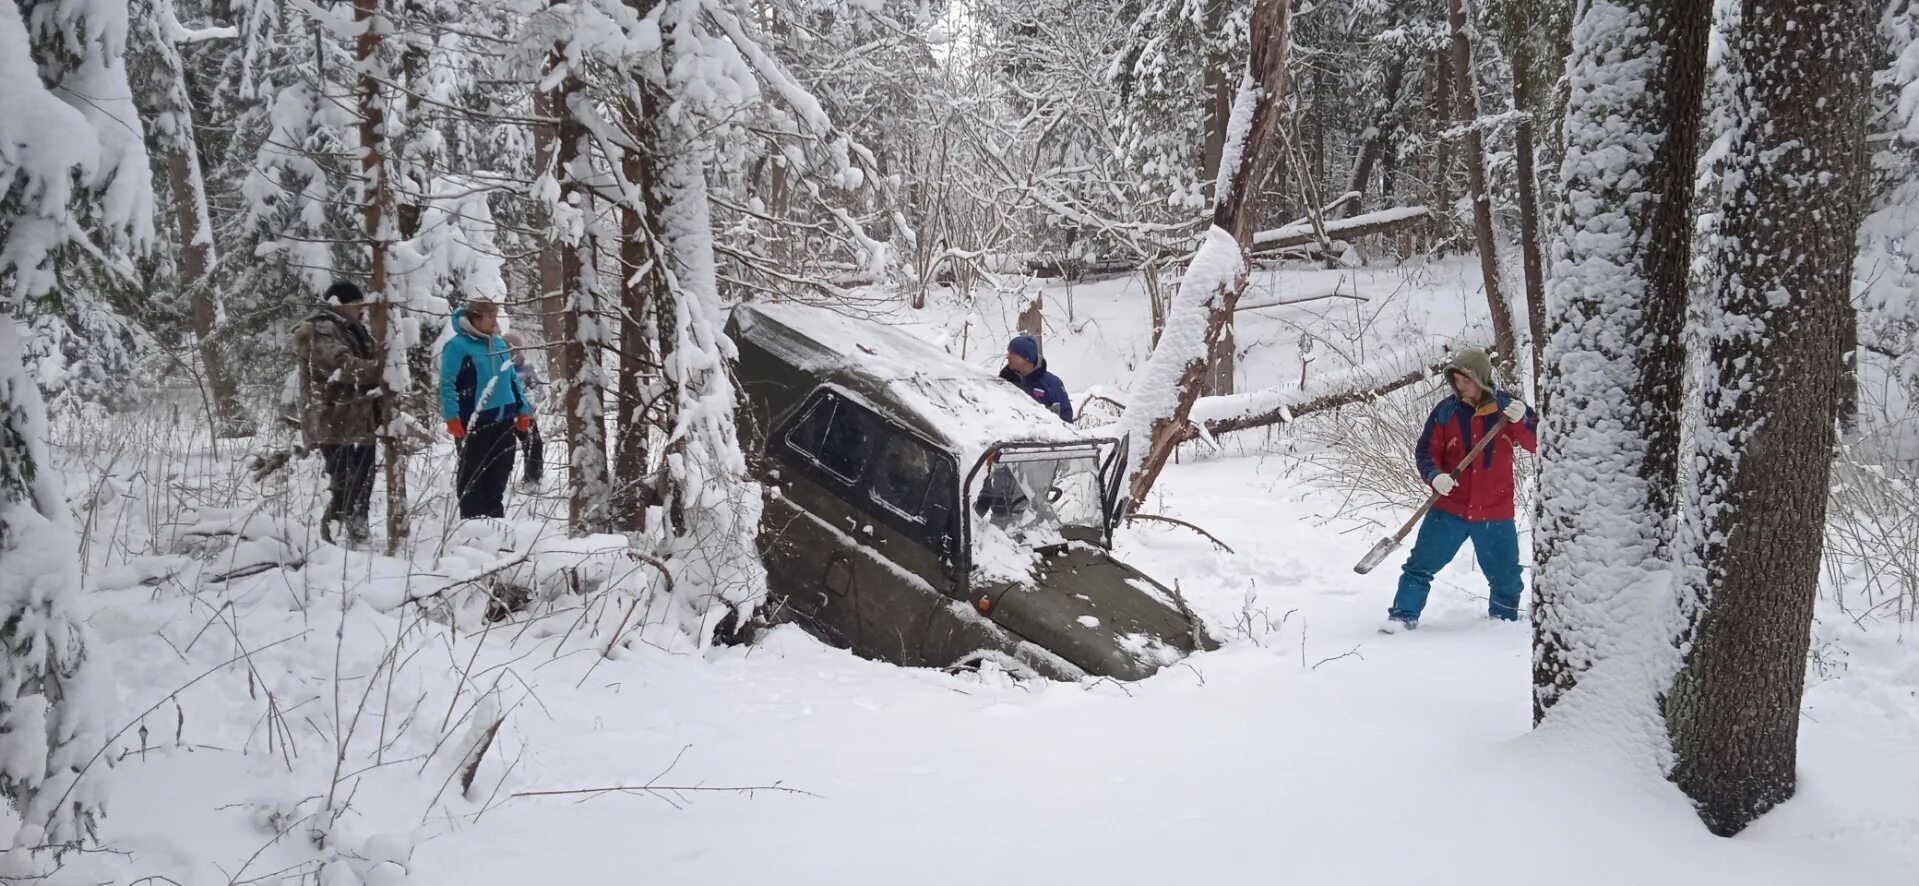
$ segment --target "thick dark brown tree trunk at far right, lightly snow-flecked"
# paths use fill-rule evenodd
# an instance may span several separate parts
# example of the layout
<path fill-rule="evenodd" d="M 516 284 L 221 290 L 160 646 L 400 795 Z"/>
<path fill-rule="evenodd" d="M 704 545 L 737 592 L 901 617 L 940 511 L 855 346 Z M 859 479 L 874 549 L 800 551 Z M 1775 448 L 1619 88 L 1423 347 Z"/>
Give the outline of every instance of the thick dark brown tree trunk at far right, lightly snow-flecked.
<path fill-rule="evenodd" d="M 1729 10 L 1742 88 L 1721 194 L 1716 309 L 1689 527 L 1700 585 L 1666 696 L 1673 782 L 1716 834 L 1789 800 L 1823 554 L 1833 408 L 1865 176 L 1875 4 Z M 1739 322 L 1725 322 L 1739 318 Z"/>

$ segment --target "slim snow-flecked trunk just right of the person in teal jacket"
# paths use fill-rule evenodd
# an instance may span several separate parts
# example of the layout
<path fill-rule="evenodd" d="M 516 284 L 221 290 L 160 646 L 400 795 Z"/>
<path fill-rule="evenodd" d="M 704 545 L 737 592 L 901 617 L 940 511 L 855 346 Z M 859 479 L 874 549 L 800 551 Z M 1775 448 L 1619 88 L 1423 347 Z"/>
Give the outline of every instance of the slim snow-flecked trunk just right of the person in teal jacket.
<path fill-rule="evenodd" d="M 610 483 L 606 478 L 606 318 L 599 305 L 599 263 L 593 236 L 591 144 L 583 113 L 589 107 L 585 84 L 568 75 L 560 81 L 560 201 L 580 209 L 585 228 L 580 240 L 560 245 L 560 353 L 574 370 L 562 403 L 566 405 L 566 451 L 572 489 L 566 524 L 574 535 L 604 531 L 610 525 Z M 549 236 L 553 236 L 549 232 Z"/>

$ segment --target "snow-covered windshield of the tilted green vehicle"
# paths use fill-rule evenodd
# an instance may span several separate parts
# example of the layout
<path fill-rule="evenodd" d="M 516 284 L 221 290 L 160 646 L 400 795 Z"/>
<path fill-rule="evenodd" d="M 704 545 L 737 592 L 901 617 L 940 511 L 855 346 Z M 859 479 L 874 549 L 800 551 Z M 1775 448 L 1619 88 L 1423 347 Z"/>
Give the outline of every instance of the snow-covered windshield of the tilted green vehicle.
<path fill-rule="evenodd" d="M 1023 547 L 1098 543 L 1105 531 L 1100 447 L 1000 447 L 973 474 L 967 497 L 981 524 Z"/>

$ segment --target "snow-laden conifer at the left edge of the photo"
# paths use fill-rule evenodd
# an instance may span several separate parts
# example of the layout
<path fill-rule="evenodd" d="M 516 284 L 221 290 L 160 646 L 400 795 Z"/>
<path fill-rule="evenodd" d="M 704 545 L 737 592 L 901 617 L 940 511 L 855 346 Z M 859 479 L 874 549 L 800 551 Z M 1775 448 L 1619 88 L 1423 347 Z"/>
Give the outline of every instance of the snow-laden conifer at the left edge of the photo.
<path fill-rule="evenodd" d="M 0 794 L 23 823 L 17 846 L 59 848 L 92 834 L 100 796 L 83 775 L 106 736 L 71 516 L 17 318 L 50 293 L 86 305 L 92 293 L 56 276 L 73 222 L 94 247 L 138 249 L 152 192 L 127 100 L 127 6 L 36 6 L 0 4 L 0 138 L 12 142 L 0 152 Z M 63 96 L 96 100 L 83 109 Z"/>

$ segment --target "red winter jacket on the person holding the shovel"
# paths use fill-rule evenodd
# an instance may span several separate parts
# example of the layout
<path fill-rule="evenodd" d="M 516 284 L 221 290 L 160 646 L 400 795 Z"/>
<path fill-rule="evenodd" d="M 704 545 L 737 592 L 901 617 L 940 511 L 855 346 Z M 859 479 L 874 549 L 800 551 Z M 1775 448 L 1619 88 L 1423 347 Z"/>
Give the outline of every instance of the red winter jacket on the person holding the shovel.
<path fill-rule="evenodd" d="M 1495 393 L 1491 403 L 1474 410 L 1455 393 L 1433 407 L 1426 430 L 1420 431 L 1420 443 L 1412 449 L 1428 485 L 1458 466 L 1480 435 L 1493 430 L 1506 403 L 1512 403 L 1510 395 Z M 1514 445 L 1526 447 L 1528 453 L 1539 451 L 1539 416 L 1531 407 L 1526 407 L 1524 422 L 1506 422 L 1499 439 L 1487 443 L 1480 458 L 1474 458 L 1478 464 L 1458 474 L 1458 487 L 1451 495 L 1441 495 L 1433 506 L 1472 522 L 1512 520 Z"/>

